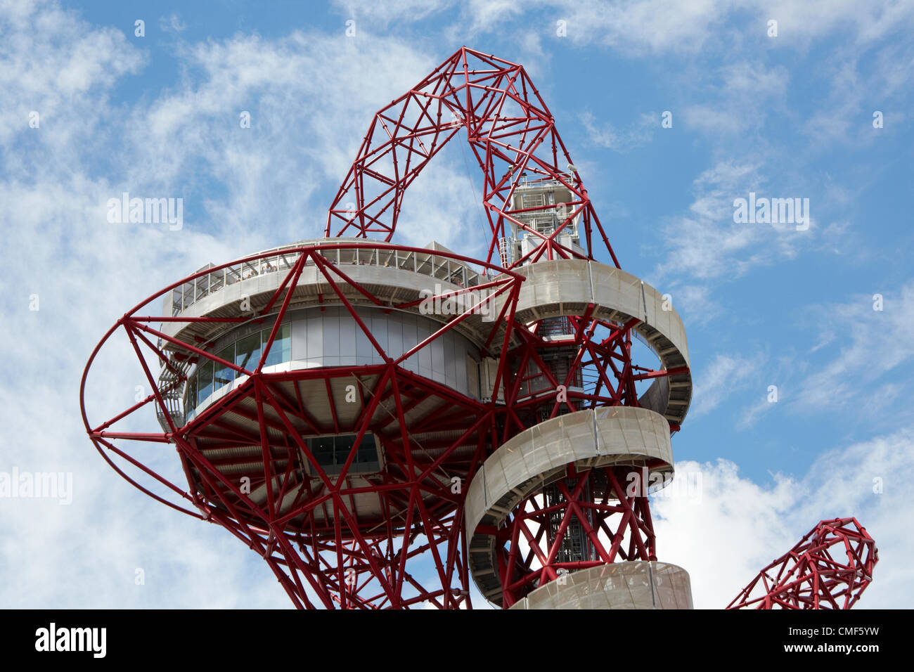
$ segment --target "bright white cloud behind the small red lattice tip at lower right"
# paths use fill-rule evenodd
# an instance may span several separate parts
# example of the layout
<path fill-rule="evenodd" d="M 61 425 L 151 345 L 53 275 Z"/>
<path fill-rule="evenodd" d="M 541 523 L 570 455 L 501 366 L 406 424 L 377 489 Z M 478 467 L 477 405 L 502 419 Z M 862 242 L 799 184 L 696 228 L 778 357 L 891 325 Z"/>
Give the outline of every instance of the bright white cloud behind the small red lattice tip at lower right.
<path fill-rule="evenodd" d="M 857 608 L 907 608 L 914 590 L 908 559 L 914 431 L 898 430 L 822 454 L 802 476 L 758 485 L 736 464 L 679 462 L 676 478 L 701 474 L 700 497 L 657 497 L 652 505 L 658 558 L 689 572 L 696 608 L 725 607 L 771 560 L 820 520 L 856 517 L 876 540 L 879 562 Z M 882 478 L 884 492 L 874 493 Z M 675 481 L 674 481 L 675 482 Z"/>

